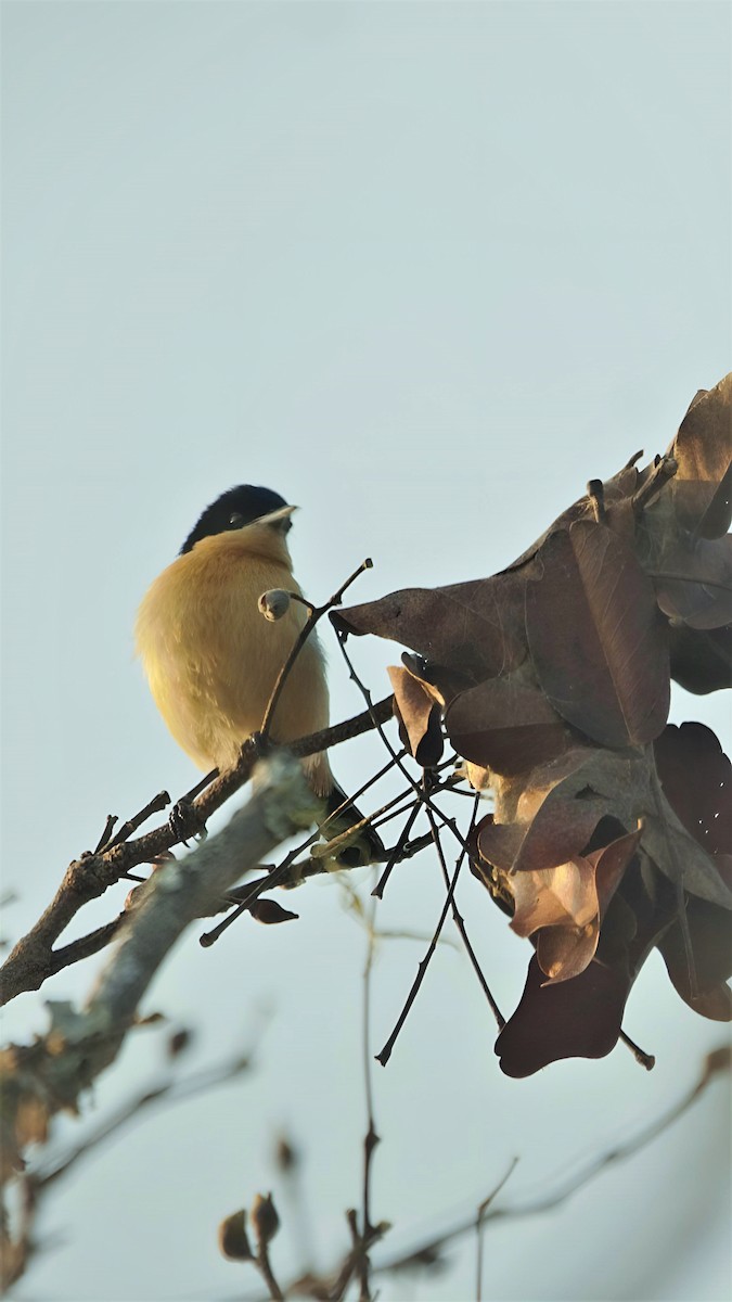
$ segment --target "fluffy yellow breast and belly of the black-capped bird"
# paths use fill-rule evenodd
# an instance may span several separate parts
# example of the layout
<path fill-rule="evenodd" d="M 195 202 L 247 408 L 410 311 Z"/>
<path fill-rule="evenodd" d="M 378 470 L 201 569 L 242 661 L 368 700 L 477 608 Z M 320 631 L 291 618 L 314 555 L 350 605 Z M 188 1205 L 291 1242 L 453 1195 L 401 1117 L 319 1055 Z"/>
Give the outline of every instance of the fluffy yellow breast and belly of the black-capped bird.
<path fill-rule="evenodd" d="M 275 622 L 259 613 L 258 599 L 272 587 L 300 591 L 287 566 L 246 553 L 237 534 L 225 534 L 173 561 L 139 608 L 137 650 L 150 690 L 175 740 L 202 769 L 231 767 L 260 728 L 305 624 L 300 602 Z M 311 635 L 290 671 L 271 736 L 288 742 L 327 724 L 323 655 Z M 307 767 L 314 786 L 327 790 L 326 756 Z"/>

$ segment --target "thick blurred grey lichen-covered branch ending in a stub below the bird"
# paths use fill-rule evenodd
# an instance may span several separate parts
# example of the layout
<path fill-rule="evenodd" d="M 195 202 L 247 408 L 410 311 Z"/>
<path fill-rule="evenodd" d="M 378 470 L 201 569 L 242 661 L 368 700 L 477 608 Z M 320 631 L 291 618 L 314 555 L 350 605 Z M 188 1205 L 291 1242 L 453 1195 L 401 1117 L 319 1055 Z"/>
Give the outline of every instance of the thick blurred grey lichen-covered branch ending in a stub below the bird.
<path fill-rule="evenodd" d="M 25 1150 L 48 1139 L 53 1117 L 79 1111 L 82 1092 L 115 1061 L 158 967 L 195 918 L 204 915 L 241 872 L 317 816 L 317 797 L 301 766 L 285 754 L 263 764 L 264 780 L 227 827 L 184 861 L 160 866 L 135 892 L 107 966 L 86 1006 L 49 1004 L 51 1029 L 31 1046 L 13 1046 L 3 1072 L 3 1178 L 25 1170 Z M 26 1186 L 20 1242 L 30 1242 L 35 1191 Z M 18 1277 L 25 1253 L 3 1220 L 5 1271 Z"/>

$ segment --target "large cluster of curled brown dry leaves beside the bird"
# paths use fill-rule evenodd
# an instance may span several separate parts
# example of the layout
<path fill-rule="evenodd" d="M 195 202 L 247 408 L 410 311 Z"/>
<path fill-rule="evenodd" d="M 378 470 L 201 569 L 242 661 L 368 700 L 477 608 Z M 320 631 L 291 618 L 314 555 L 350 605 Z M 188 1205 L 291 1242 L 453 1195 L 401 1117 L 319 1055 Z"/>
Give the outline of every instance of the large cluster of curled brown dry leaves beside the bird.
<path fill-rule="evenodd" d="M 701 391 L 666 457 L 630 458 L 492 578 L 410 589 L 332 618 L 426 663 L 392 678 L 417 754 L 444 727 L 494 812 L 472 867 L 529 936 L 496 1049 L 526 1075 L 599 1057 L 658 947 L 683 999 L 729 1016 L 729 762 L 666 727 L 671 676 L 732 685 L 732 376 Z"/>

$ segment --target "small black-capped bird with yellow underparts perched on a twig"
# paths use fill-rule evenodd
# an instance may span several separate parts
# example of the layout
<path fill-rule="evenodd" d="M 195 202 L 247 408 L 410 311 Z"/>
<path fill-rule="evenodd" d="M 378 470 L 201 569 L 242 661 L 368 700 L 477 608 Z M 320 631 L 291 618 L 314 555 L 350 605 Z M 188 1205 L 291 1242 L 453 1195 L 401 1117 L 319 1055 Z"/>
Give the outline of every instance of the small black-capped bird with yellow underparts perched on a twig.
<path fill-rule="evenodd" d="M 175 741 L 203 771 L 236 764 L 255 734 L 307 604 L 292 572 L 288 533 L 296 506 L 271 488 L 238 484 L 203 510 L 178 556 L 150 585 L 137 615 L 135 650 Z M 262 594 L 280 590 L 296 599 L 284 613 L 264 618 Z M 328 727 L 326 660 L 313 630 L 279 697 L 270 737 L 287 745 Z M 327 751 L 302 760 L 305 776 L 328 812 L 348 810 L 330 836 L 361 820 L 333 779 Z M 362 829 L 339 859 L 354 866 L 376 858 L 383 844 Z"/>

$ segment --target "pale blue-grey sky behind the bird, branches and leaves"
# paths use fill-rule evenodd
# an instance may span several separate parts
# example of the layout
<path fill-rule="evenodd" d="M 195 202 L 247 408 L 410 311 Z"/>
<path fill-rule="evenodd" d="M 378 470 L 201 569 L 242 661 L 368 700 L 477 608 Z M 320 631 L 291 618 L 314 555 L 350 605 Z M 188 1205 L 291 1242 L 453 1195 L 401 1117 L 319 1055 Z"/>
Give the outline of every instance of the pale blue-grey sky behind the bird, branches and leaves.
<path fill-rule="evenodd" d="M 302 509 L 292 551 L 322 600 L 367 555 L 366 600 L 490 574 L 729 370 L 731 14 L 722 3 L 18 3 L 3 5 L 3 887 L 21 935 L 66 863 L 162 786 L 195 780 L 133 658 L 134 613 L 203 506 L 241 482 Z M 400 648 L 354 644 L 378 698 Z M 330 647 L 333 720 L 362 708 Z M 675 695 L 732 745 L 728 704 Z M 345 786 L 383 763 L 341 747 Z M 354 878 L 367 897 L 367 875 Z M 86 919 L 120 906 L 125 887 Z M 317 1260 L 346 1247 L 365 1128 L 363 937 L 332 880 L 280 928 L 191 934 L 147 1001 L 199 1027 L 189 1069 L 257 1040 L 257 1073 L 150 1118 L 49 1204 L 52 1250 L 16 1289 L 53 1302 L 258 1295 L 218 1220 L 274 1189 L 272 1137 L 305 1150 Z M 499 1003 L 529 944 L 466 879 L 461 909 Z M 429 937 L 430 857 L 379 924 Z M 425 941 L 384 941 L 374 1052 Z M 63 973 L 5 1017 L 83 1000 Z M 617 1048 L 500 1075 L 460 949 L 438 952 L 386 1072 L 384 1254 L 469 1215 L 521 1157 L 507 1204 L 677 1099 L 724 1030 L 654 956 Z M 145 1087 L 139 1035 L 90 1100 Z M 63 1126 L 69 1142 L 78 1122 Z M 716 1302 L 729 1289 L 724 1090 L 544 1220 L 487 1240 L 483 1297 Z M 287 1206 L 283 1206 L 287 1219 Z M 288 1277 L 297 1236 L 275 1243 Z M 474 1295 L 451 1273 L 380 1281 L 384 1302 Z M 260 1292 L 260 1290 L 259 1290 Z"/>

